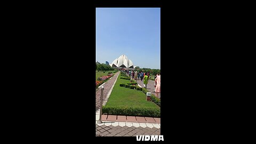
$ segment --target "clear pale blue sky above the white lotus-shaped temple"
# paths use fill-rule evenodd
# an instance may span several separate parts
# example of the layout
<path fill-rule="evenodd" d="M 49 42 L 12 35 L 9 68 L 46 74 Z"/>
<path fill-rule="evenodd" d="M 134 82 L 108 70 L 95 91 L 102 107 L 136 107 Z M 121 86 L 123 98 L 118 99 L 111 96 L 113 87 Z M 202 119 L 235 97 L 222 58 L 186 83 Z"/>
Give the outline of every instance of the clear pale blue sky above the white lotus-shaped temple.
<path fill-rule="evenodd" d="M 96 61 L 160 69 L 160 8 L 96 8 Z"/>

